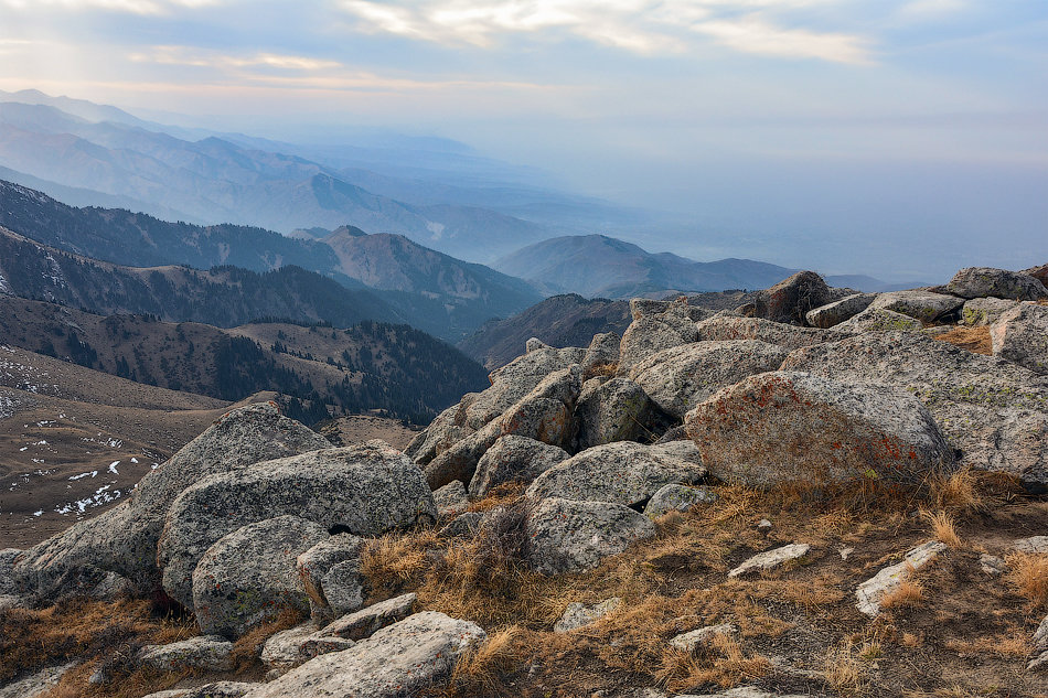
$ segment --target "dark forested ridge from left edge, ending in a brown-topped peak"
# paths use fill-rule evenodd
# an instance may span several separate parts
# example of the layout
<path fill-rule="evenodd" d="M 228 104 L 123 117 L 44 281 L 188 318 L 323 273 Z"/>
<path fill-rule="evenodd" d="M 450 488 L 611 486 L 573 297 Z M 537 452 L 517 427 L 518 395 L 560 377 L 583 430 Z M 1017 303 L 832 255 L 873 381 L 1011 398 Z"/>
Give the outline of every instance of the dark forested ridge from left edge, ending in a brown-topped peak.
<path fill-rule="evenodd" d="M 19 277 L 19 294 L 103 313 L 150 312 L 173 321 L 225 326 L 259 316 L 328 321 L 340 326 L 366 318 L 407 322 L 441 339 L 458 341 L 486 320 L 512 315 L 542 298 L 531 284 L 488 267 L 460 261 L 403 236 L 370 236 L 351 226 L 334 232 L 313 228 L 292 238 L 248 226 L 168 223 L 124 210 L 75 208 L 3 181 L 0 204 L 0 226 L 81 257 L 72 264 L 52 255 L 54 264 L 64 265 L 69 279 L 79 280 L 81 275 L 90 276 L 92 268 L 111 269 L 113 265 L 164 268 L 149 269 L 148 273 L 114 271 L 114 278 L 122 280 L 120 290 L 100 301 L 88 287 L 94 283 L 101 288 L 110 280 L 95 273 L 90 282 L 81 280 L 60 289 L 61 283 L 53 281 L 50 287 L 54 288 L 45 288 L 49 275 L 44 267 L 52 264 L 46 255 L 40 259 L 36 251 L 25 247 L 28 240 L 6 238 L 3 244 L 13 246 L 12 254 L 18 247 L 35 259 L 26 269 L 7 272 L 9 280 Z M 323 237 L 318 239 L 320 235 Z M 197 269 L 235 266 L 264 276 L 232 269 L 206 273 L 167 269 L 172 265 Z M 40 272 L 30 273 L 30 269 Z M 281 271 L 272 273 L 276 269 Z M 309 272 L 330 277 L 351 292 Z M 267 283 L 272 288 L 265 288 Z M 153 290 L 147 291 L 142 284 Z M 226 291 L 221 291 L 223 286 L 228 287 Z M 168 287 L 179 289 L 185 298 L 170 296 Z M 364 293 L 365 287 L 372 289 L 370 294 Z M 222 298 L 228 302 L 208 301 L 205 291 L 223 292 Z M 344 309 L 338 308 L 340 303 Z"/>

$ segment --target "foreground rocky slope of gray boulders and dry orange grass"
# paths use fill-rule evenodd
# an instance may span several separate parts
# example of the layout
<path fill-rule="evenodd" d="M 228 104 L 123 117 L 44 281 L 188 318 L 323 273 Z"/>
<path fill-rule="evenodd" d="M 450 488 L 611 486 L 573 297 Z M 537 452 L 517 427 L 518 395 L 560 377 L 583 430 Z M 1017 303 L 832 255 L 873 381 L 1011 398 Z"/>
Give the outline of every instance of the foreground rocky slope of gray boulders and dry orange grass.
<path fill-rule="evenodd" d="M 0 697 L 1048 695 L 1045 271 L 635 300 L 403 451 L 233 410 L 0 551 Z"/>

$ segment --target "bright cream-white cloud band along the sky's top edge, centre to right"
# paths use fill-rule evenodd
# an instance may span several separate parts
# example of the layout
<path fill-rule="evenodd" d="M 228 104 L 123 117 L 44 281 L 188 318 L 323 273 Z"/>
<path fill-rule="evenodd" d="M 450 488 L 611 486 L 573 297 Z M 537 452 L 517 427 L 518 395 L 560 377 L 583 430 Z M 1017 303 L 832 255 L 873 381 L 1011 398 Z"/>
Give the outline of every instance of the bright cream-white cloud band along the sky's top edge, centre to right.
<path fill-rule="evenodd" d="M 870 42 L 864 37 L 780 23 L 782 13 L 830 4 L 833 0 L 341 0 L 339 7 L 356 19 L 360 31 L 447 45 L 489 47 L 505 35 L 537 32 L 548 41 L 560 32 L 654 54 L 687 51 L 705 35 L 744 53 L 869 63 Z"/>

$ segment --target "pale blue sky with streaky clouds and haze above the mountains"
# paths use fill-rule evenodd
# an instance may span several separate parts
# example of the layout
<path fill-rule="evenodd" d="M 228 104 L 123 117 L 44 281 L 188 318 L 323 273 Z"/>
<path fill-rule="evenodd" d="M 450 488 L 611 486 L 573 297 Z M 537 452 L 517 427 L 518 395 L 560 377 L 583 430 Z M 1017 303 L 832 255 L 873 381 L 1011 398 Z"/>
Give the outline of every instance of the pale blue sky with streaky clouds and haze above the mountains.
<path fill-rule="evenodd" d="M 1048 261 L 1044 0 L 0 0 L 24 88 L 458 139 L 677 212 L 650 246 L 698 258 Z"/>

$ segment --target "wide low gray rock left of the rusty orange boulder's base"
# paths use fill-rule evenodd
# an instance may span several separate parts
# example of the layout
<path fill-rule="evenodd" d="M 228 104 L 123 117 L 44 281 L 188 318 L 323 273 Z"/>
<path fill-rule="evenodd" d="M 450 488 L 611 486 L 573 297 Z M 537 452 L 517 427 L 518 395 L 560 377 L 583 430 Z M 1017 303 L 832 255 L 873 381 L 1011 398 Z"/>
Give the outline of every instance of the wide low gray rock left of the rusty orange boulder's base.
<path fill-rule="evenodd" d="M 547 497 L 638 506 L 667 484 L 695 484 L 706 476 L 698 449 L 687 441 L 641 445 L 631 441 L 587 449 L 554 465 L 527 488 Z"/>

